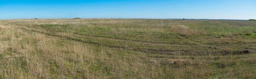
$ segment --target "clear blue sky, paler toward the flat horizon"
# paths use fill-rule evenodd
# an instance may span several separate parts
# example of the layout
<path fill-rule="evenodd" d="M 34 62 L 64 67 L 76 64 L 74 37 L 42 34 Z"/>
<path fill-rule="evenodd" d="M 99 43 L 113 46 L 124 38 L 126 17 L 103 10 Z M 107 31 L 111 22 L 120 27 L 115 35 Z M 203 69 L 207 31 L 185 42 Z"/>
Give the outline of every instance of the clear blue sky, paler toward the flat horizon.
<path fill-rule="evenodd" d="M 256 19 L 256 0 L 0 0 L 0 19 Z"/>

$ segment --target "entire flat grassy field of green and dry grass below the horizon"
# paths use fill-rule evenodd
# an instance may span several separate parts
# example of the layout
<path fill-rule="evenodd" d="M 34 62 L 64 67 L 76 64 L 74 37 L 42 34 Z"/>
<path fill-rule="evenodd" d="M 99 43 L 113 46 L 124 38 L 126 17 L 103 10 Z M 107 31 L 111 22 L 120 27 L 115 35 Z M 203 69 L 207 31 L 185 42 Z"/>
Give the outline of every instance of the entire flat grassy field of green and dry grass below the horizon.
<path fill-rule="evenodd" d="M 256 22 L 0 20 L 0 78 L 255 78 Z"/>

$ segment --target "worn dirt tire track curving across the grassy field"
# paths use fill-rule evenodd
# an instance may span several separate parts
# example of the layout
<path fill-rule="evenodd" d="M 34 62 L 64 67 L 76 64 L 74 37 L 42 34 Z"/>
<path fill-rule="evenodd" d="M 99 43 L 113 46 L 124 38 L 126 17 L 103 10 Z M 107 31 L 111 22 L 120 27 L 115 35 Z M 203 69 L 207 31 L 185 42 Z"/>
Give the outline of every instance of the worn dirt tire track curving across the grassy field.
<path fill-rule="evenodd" d="M 26 26 L 24 26 L 26 27 Z M 78 39 L 76 37 L 85 37 L 85 38 L 90 38 L 90 39 L 102 39 L 102 40 L 108 40 L 108 41 L 116 41 L 116 42 L 121 42 L 121 43 L 135 43 L 135 44 L 147 44 L 149 46 L 174 46 L 176 48 L 184 48 L 184 47 L 189 47 L 189 48 L 193 48 L 193 47 L 199 47 L 200 48 L 221 48 L 221 47 L 234 47 L 234 46 L 245 46 L 245 45 L 222 45 L 222 46 L 214 46 L 214 45 L 200 45 L 200 46 L 192 46 L 192 45 L 171 45 L 171 44 L 166 44 L 166 43 L 150 43 L 150 42 L 141 42 L 141 41 L 131 41 L 131 40 L 127 40 L 127 39 L 115 39 L 115 38 L 106 38 L 106 37 L 102 37 L 102 36 L 93 36 L 93 35 L 85 35 L 85 34 L 73 34 L 74 36 L 60 36 L 57 35 L 56 32 L 47 29 L 47 28 L 43 28 L 40 27 L 41 30 L 47 31 L 47 32 L 40 32 L 40 31 L 36 31 L 36 30 L 29 30 L 26 28 L 22 28 L 22 27 L 18 27 L 20 29 L 24 29 L 24 30 L 28 30 L 28 31 L 33 31 L 33 32 L 37 32 L 37 33 L 42 33 L 42 34 L 47 34 L 50 36 L 56 36 L 56 37 L 61 37 L 61 38 L 65 38 L 65 39 L 69 39 L 72 41 L 77 41 L 77 42 L 81 42 L 81 43 L 86 43 L 86 44 L 91 44 L 91 45 L 98 45 L 98 46 L 104 46 L 104 47 L 109 47 L 109 48 L 117 48 L 117 49 L 124 49 L 124 50 L 131 50 L 131 51 L 137 51 L 137 52 L 147 52 L 147 53 L 156 53 L 156 54 L 176 54 L 177 51 L 171 50 L 171 49 L 157 49 L 157 48 L 131 48 L 132 46 L 129 47 L 125 47 L 125 46 L 115 46 L 115 45 L 104 45 L 98 42 L 93 42 L 90 40 L 84 40 L 84 39 Z M 207 50 L 207 49 L 206 49 Z M 206 51 L 206 50 L 200 50 L 200 51 Z M 186 51 L 186 50 L 178 50 L 178 51 Z M 204 55 L 204 54 L 202 54 Z"/>

